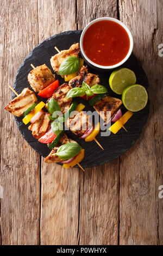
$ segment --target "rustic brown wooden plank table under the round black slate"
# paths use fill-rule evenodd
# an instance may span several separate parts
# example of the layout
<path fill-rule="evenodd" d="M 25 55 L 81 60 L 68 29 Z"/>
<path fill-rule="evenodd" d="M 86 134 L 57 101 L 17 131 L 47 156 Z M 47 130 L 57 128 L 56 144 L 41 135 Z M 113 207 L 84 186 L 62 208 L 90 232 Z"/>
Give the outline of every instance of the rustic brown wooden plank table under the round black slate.
<path fill-rule="evenodd" d="M 0 0 L 2 245 L 161 245 L 162 0 Z M 97 17 L 123 21 L 149 80 L 151 112 L 139 140 L 101 167 L 46 164 L 4 111 L 24 57 L 56 33 Z M 40 60 L 40 64 L 41 60 Z M 2 193 L 1 193 L 2 197 Z"/>

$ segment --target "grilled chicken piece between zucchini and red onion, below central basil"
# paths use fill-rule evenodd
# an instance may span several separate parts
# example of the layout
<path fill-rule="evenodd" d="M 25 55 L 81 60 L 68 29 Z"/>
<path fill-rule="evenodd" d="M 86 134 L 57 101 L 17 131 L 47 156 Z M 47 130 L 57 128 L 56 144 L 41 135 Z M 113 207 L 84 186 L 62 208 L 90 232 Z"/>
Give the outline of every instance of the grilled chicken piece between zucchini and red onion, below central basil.
<path fill-rule="evenodd" d="M 68 118 L 66 125 L 75 135 L 81 137 L 93 124 L 91 116 L 81 111 L 74 117 Z"/>

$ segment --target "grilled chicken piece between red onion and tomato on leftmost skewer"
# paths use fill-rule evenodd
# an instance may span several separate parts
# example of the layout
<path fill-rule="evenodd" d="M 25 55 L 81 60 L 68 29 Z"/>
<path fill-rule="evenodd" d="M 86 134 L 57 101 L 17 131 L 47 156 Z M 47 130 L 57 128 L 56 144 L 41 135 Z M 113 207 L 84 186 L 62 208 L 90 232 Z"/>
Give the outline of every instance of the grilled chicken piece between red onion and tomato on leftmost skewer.
<path fill-rule="evenodd" d="M 49 115 L 51 114 L 44 112 L 35 123 L 29 125 L 28 130 L 32 131 L 34 138 L 41 138 L 50 129 L 51 120 L 48 118 Z"/>

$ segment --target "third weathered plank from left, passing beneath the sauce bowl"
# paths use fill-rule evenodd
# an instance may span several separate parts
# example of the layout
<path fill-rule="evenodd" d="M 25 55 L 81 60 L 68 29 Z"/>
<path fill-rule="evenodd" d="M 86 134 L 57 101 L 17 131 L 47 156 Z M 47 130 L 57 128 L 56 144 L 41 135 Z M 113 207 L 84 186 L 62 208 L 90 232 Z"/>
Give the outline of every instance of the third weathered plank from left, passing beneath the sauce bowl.
<path fill-rule="evenodd" d="M 117 18 L 117 1 L 77 1 L 78 29 L 102 16 Z M 80 175 L 80 245 L 117 245 L 119 160 Z"/>

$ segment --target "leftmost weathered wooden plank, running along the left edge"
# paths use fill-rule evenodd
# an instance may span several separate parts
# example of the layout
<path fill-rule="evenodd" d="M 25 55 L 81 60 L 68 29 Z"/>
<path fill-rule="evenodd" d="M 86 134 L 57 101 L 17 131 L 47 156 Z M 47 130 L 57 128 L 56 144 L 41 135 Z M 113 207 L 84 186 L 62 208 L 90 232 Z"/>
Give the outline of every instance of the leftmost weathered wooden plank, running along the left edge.
<path fill-rule="evenodd" d="M 24 141 L 14 116 L 4 111 L 8 88 L 22 60 L 37 44 L 36 1 L 1 0 L 1 241 L 3 245 L 39 243 L 40 156 Z M 2 101 L 3 100 L 3 101 Z M 1 233 L 0 232 L 0 233 Z"/>

